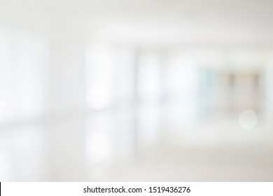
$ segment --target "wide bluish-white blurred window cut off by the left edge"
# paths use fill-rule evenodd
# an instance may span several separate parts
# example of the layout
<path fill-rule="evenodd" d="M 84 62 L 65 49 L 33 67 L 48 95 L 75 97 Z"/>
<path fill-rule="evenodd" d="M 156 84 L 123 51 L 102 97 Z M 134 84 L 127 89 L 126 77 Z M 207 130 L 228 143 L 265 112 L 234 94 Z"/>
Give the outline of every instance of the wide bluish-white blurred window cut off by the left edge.
<path fill-rule="evenodd" d="M 0 32 L 0 121 L 38 116 L 43 110 L 43 40 Z"/>

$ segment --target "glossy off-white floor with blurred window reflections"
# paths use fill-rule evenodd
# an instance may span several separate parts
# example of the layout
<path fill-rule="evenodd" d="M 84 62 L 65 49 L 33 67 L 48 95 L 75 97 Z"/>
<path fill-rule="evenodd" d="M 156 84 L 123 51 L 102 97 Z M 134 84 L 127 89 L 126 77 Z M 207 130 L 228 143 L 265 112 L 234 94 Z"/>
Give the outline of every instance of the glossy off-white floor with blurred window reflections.
<path fill-rule="evenodd" d="M 189 126 L 162 118 L 162 111 L 113 109 L 3 130 L 1 180 L 273 180 L 273 137 L 265 123 L 244 130 L 238 117 Z"/>

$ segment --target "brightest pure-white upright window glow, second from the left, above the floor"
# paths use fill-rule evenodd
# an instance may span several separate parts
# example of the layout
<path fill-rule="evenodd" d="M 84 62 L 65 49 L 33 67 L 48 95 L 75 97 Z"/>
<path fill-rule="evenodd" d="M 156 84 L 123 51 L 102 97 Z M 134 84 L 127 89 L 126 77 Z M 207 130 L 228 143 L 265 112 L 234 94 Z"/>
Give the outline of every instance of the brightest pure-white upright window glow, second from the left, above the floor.
<path fill-rule="evenodd" d="M 87 104 L 91 109 L 104 109 L 113 104 L 115 59 L 109 45 L 92 45 L 87 50 Z"/>

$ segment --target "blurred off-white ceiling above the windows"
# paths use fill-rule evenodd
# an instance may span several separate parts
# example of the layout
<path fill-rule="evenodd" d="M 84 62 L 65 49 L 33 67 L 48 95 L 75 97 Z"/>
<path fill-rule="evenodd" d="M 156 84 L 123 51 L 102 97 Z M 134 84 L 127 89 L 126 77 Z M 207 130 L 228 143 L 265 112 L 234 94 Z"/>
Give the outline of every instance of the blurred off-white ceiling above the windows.
<path fill-rule="evenodd" d="M 273 46 L 273 1 L 0 0 L 0 10 L 1 19 L 5 12 L 77 18 L 118 41 Z"/>

